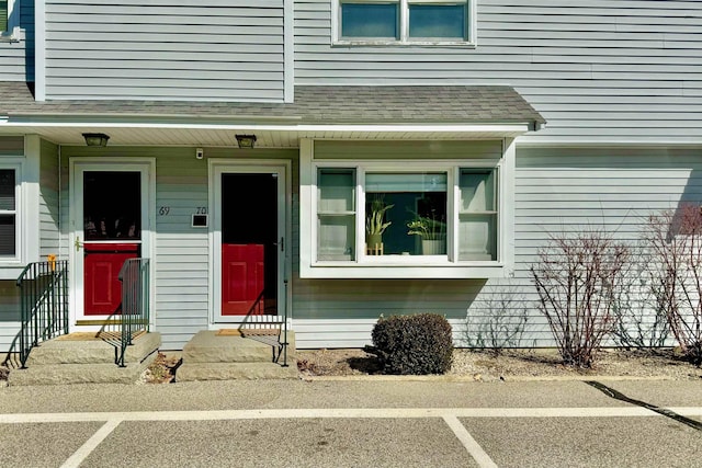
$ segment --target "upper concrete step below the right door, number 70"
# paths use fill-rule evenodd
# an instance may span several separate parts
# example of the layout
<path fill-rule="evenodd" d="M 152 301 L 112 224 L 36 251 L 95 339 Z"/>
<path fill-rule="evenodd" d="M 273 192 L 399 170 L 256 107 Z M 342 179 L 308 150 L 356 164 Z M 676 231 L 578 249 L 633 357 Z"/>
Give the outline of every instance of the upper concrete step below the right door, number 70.
<path fill-rule="evenodd" d="M 208 363 L 272 363 L 273 346 L 267 340 L 218 335 L 215 330 L 197 332 L 183 346 L 183 366 Z M 288 332 L 288 361 L 294 354 L 294 333 Z M 182 367 L 182 366 L 181 366 Z M 180 369 L 179 369 L 180 373 Z"/>

